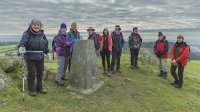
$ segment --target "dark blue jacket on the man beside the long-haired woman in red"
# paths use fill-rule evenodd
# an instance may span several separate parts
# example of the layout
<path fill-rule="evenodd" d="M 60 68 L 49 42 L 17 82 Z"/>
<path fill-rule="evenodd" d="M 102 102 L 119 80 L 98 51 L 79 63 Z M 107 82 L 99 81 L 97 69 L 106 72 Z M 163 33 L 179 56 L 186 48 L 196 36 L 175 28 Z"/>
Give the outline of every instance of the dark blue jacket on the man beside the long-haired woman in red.
<path fill-rule="evenodd" d="M 120 33 L 120 35 L 117 35 L 115 32 L 112 32 L 111 37 L 112 37 L 112 40 L 113 40 L 112 51 L 117 52 L 117 53 L 121 53 L 122 48 L 124 47 L 124 44 L 125 44 L 123 34 Z"/>

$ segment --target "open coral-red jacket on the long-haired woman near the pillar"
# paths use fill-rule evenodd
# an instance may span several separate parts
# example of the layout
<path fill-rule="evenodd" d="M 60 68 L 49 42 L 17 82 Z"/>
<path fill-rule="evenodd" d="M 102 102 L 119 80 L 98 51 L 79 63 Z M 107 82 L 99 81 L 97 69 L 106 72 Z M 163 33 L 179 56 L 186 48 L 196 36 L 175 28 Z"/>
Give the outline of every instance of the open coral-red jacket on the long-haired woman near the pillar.
<path fill-rule="evenodd" d="M 104 42 L 103 35 L 101 35 L 99 37 L 99 41 L 100 41 L 100 48 L 99 48 L 99 50 L 102 51 L 103 50 L 103 42 Z M 112 52 L 112 38 L 111 38 L 110 35 L 108 35 L 108 50 L 110 52 Z"/>

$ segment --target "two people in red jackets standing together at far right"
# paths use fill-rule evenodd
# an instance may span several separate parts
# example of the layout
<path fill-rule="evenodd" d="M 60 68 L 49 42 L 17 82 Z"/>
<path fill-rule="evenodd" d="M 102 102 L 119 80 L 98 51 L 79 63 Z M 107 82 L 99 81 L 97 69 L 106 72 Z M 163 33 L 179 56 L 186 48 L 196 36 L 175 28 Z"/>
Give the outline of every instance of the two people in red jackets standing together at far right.
<path fill-rule="evenodd" d="M 158 40 L 154 45 L 154 52 L 158 59 L 158 67 L 160 73 L 159 77 L 163 77 L 167 79 L 168 72 L 168 51 L 169 44 L 166 36 L 162 34 L 162 32 L 158 33 Z M 183 72 L 184 67 L 187 65 L 189 61 L 190 54 L 190 46 L 186 44 L 184 41 L 184 37 L 182 35 L 177 36 L 176 43 L 172 46 L 172 50 L 170 52 L 171 56 L 171 75 L 174 78 L 174 82 L 171 84 L 176 88 L 181 88 L 183 86 Z M 176 69 L 178 68 L 178 74 L 176 73 Z"/>

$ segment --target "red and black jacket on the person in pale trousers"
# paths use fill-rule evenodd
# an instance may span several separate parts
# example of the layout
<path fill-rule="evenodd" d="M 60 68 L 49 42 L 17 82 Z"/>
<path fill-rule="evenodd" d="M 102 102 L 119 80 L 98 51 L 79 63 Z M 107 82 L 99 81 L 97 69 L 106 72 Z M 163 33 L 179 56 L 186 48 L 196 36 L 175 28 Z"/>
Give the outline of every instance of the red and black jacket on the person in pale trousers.
<path fill-rule="evenodd" d="M 169 45 L 168 45 L 168 41 L 166 40 L 166 37 L 164 37 L 163 40 L 156 41 L 154 45 L 154 51 L 155 51 L 156 57 L 167 59 L 168 50 L 169 50 Z"/>

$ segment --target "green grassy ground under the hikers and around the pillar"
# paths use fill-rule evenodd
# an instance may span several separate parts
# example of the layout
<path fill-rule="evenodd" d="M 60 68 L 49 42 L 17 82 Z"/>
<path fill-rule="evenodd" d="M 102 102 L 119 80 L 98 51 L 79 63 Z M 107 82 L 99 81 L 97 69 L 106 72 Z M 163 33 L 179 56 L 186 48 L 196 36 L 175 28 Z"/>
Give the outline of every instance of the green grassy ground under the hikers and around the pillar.
<path fill-rule="evenodd" d="M 71 92 L 57 87 L 54 80 L 45 80 L 47 95 L 30 97 L 25 102 L 18 89 L 18 80 L 0 92 L 1 112 L 198 112 L 200 110 L 199 61 L 191 61 L 186 68 L 184 86 L 176 89 L 167 80 L 156 76 L 157 67 L 139 62 L 140 69 L 130 68 L 129 55 L 122 56 L 122 74 L 107 77 L 99 72 L 104 85 L 91 95 Z M 46 64 L 55 70 L 56 61 Z M 10 74 L 14 77 L 20 71 Z M 66 82 L 68 84 L 68 82 Z"/>

